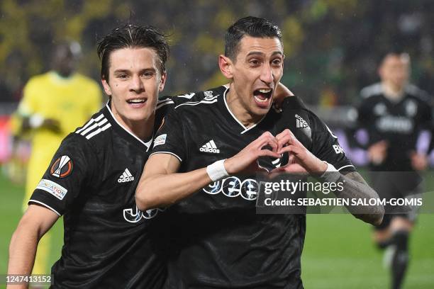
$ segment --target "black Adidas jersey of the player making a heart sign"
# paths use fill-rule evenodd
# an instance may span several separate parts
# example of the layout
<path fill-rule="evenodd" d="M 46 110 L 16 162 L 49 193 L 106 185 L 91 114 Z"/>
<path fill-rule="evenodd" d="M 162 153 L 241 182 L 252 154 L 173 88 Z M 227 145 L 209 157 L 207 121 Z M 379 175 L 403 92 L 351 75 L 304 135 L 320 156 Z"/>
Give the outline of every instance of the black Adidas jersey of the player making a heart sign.
<path fill-rule="evenodd" d="M 201 101 L 177 106 L 157 132 L 152 154 L 167 153 L 192 171 L 240 152 L 263 132 L 288 128 L 320 159 L 354 171 L 338 140 L 316 115 L 291 97 L 291 109 L 273 109 L 250 128 L 226 103 L 228 89 L 201 91 Z M 286 115 L 286 117 L 288 116 Z M 274 167 L 280 161 L 272 162 Z M 305 215 L 256 213 L 255 176 L 228 176 L 167 208 L 171 233 L 168 288 L 302 288 Z"/>

